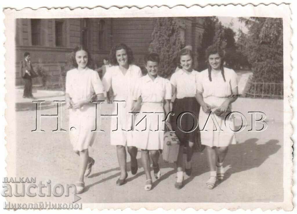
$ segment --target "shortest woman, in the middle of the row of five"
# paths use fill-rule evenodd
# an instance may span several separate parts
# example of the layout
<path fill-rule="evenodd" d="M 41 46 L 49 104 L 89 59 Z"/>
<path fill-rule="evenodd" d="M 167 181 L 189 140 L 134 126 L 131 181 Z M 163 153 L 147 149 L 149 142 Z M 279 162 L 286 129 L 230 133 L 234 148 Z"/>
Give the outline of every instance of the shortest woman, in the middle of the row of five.
<path fill-rule="evenodd" d="M 137 102 L 140 96 L 143 102 L 140 114 L 136 116 L 136 123 L 146 116 L 146 114 L 142 112 L 164 112 L 165 115 L 163 115 L 162 119 L 164 120 L 170 111 L 171 85 L 168 79 L 158 75 L 159 55 L 156 53 L 148 54 L 145 56 L 144 61 L 148 73 L 136 83 L 133 95 L 133 102 Z M 158 130 L 159 127 L 158 117 L 158 114 L 150 115 L 148 127 L 146 127 L 147 124 L 145 120 L 144 123 L 142 122 L 140 125 L 136 126 L 132 133 L 132 135 L 134 135 L 133 138 L 138 142 L 137 147 L 141 149 L 141 160 L 146 174 L 144 189 L 147 191 L 151 190 L 152 186 L 150 156 L 153 161 L 154 177 L 159 179 L 161 176 L 158 162 L 160 155 L 159 150 L 163 149 L 164 132 L 155 131 Z M 164 123 L 162 125 L 162 130 L 164 130 Z M 153 131 L 141 131 L 146 129 Z"/>

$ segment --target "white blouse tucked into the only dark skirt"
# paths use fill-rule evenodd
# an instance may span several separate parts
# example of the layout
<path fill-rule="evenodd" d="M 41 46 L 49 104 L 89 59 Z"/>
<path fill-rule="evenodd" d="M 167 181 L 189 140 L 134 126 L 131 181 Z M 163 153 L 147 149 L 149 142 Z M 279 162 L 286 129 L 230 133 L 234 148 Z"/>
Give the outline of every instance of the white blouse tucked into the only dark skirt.
<path fill-rule="evenodd" d="M 179 69 L 172 74 L 170 83 L 176 87 L 176 98 L 182 99 L 184 97 L 196 96 L 196 82 L 198 74 L 199 72 L 196 70 L 192 70 L 192 72 L 185 72 L 182 69 Z"/>

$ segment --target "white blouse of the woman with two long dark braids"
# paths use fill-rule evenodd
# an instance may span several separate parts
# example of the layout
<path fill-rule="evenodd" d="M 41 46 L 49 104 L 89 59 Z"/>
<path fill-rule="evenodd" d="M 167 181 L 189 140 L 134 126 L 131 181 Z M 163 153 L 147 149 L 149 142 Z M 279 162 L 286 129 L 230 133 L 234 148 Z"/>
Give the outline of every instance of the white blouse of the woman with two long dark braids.
<path fill-rule="evenodd" d="M 214 74 L 211 72 L 211 80 L 208 78 L 208 69 L 199 73 L 197 82 L 197 90 L 200 91 L 203 97 L 216 96 L 228 97 L 232 95 L 232 89 L 238 86 L 237 75 L 234 70 L 224 67 L 224 82 L 222 73 Z"/>

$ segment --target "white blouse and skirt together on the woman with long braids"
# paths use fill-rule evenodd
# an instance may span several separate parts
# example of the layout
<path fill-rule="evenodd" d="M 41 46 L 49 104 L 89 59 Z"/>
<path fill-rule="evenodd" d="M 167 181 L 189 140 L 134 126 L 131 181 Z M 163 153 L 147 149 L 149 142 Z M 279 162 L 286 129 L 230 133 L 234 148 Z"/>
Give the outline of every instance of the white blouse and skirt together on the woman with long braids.
<path fill-rule="evenodd" d="M 224 67 L 224 75 L 225 80 L 222 77 L 222 73 L 215 74 L 211 72 L 211 79 L 209 81 L 208 78 L 208 69 L 200 72 L 197 83 L 197 90 L 202 92 L 203 100 L 206 104 L 211 106 L 212 111 L 214 111 L 217 107 L 221 106 L 223 102 L 230 95 L 232 95 L 232 89 L 238 86 L 237 75 L 234 70 Z M 230 109 L 232 107 L 230 106 Z M 212 115 L 212 114 L 211 114 Z M 226 127 L 225 118 L 219 117 L 214 114 L 215 119 L 217 120 L 219 127 L 223 131 L 219 131 L 219 127 L 216 127 L 211 117 L 209 117 L 209 113 L 205 113 L 200 107 L 199 113 L 199 127 L 200 130 L 208 130 L 208 131 L 200 131 L 201 134 L 201 144 L 209 146 L 209 147 L 226 147 L 230 144 L 236 144 L 235 133 L 230 131 L 235 130 L 234 127 L 234 118 L 229 117 L 226 119 Z M 208 121 L 207 121 L 208 118 Z M 228 122 L 229 120 L 229 122 Z M 207 121 L 207 124 L 206 124 Z M 206 125 L 205 125 L 206 124 Z M 230 127 L 229 127 L 230 124 Z M 213 130 L 218 131 L 213 131 Z"/>

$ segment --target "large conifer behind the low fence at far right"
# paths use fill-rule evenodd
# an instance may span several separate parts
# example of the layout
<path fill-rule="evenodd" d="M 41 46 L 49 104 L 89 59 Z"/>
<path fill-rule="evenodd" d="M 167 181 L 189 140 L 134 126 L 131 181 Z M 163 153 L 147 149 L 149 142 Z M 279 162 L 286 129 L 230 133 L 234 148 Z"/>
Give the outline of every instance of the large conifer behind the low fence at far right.
<path fill-rule="evenodd" d="M 249 30 L 240 32 L 238 52 L 252 65 L 254 78 L 283 82 L 283 29 L 281 18 L 241 18 Z"/>

